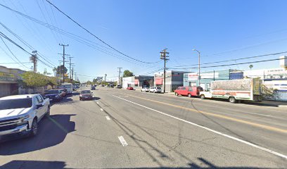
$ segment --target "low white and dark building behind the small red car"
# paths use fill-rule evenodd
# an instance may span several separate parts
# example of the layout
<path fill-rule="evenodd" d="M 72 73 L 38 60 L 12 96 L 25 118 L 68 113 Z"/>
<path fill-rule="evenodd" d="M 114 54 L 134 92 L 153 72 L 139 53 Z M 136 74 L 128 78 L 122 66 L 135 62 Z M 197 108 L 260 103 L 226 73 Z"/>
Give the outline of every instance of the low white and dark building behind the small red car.
<path fill-rule="evenodd" d="M 139 75 L 132 77 L 122 77 L 122 88 L 134 87 L 141 89 L 142 87 L 153 87 L 153 76 Z"/>

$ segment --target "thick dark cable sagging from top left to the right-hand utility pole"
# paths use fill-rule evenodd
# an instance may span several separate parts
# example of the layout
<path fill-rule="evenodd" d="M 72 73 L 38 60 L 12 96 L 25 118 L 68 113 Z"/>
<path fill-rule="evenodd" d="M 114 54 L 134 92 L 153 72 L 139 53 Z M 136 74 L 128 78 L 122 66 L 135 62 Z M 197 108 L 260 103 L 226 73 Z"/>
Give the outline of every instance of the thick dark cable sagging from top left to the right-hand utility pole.
<path fill-rule="evenodd" d="M 134 61 L 138 61 L 141 63 L 158 63 L 158 62 L 145 62 L 145 61 L 140 61 L 136 58 L 132 58 L 131 56 L 128 56 L 127 54 L 123 54 L 121 51 L 115 49 L 113 46 L 110 46 L 110 44 L 104 42 L 102 39 L 100 39 L 99 37 L 97 37 L 96 35 L 94 35 L 92 32 L 90 32 L 89 30 L 87 30 L 85 27 L 83 27 L 82 25 L 80 25 L 79 23 L 77 23 L 77 21 L 73 20 L 69 15 L 65 14 L 63 11 L 61 11 L 57 6 L 55 6 L 54 4 L 51 3 L 51 1 L 46 0 L 49 4 L 51 4 L 51 6 L 53 6 L 54 8 L 56 8 L 58 11 L 60 11 L 60 13 L 63 13 L 63 15 L 65 15 L 66 17 L 68 17 L 70 20 L 72 20 L 73 23 L 77 24 L 79 27 L 81 27 L 83 30 L 85 30 L 86 32 L 88 32 L 90 35 L 92 35 L 93 37 L 96 37 L 96 39 L 98 39 L 99 41 L 103 42 L 103 44 L 106 44 L 107 46 L 109 46 L 111 49 L 117 51 L 118 53 L 122 54 L 123 56 L 127 56 L 128 58 L 131 58 Z"/>

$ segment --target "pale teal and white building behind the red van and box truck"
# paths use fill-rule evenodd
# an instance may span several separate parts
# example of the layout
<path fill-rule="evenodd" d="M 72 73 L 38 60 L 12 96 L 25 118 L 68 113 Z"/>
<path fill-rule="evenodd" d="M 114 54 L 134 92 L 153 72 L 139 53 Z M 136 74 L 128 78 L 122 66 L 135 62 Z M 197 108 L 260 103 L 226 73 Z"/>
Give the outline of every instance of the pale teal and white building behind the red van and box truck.
<path fill-rule="evenodd" d="M 200 87 L 204 90 L 210 89 L 210 82 L 215 80 L 242 79 L 240 70 L 213 70 L 200 73 Z M 184 73 L 184 86 L 199 86 L 198 73 Z"/>

